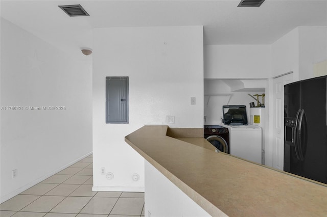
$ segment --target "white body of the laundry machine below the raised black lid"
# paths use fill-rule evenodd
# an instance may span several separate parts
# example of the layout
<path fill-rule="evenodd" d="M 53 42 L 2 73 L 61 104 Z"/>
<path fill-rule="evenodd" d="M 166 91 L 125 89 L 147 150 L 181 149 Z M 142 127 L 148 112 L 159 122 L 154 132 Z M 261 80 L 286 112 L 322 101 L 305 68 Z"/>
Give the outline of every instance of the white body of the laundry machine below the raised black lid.
<path fill-rule="evenodd" d="M 229 131 L 230 154 L 246 160 L 262 163 L 261 127 L 254 125 L 225 125 Z"/>

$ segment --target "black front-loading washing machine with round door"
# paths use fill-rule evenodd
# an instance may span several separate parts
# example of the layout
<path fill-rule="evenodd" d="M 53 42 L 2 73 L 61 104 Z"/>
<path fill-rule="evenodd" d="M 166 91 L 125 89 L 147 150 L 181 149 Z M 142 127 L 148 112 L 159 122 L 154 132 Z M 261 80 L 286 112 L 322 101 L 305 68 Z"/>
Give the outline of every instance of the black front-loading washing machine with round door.
<path fill-rule="evenodd" d="M 204 138 L 213 144 L 219 151 L 229 154 L 229 132 L 220 125 L 205 125 Z"/>

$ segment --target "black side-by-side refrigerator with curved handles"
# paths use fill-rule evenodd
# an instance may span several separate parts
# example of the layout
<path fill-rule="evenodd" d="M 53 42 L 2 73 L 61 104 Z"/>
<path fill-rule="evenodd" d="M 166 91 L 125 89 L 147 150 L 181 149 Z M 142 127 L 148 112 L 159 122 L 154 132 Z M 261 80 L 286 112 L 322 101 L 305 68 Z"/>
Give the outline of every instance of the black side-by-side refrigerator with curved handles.
<path fill-rule="evenodd" d="M 284 86 L 284 171 L 327 184 L 326 80 Z"/>

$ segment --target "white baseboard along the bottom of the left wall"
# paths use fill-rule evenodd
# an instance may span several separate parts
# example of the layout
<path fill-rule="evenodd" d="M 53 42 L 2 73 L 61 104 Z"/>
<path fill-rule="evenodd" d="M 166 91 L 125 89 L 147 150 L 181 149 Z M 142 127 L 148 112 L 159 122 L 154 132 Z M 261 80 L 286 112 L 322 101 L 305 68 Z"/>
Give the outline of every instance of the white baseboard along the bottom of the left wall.
<path fill-rule="evenodd" d="M 9 194 L 7 194 L 7 195 L 1 197 L 1 198 L 0 198 L 0 203 L 3 203 L 3 202 L 5 202 L 5 201 L 9 200 L 10 198 L 15 197 L 16 195 L 18 195 L 18 194 L 20 194 L 20 193 L 26 191 L 27 189 L 29 189 L 30 187 L 36 185 L 37 183 L 39 183 L 39 182 L 41 182 L 41 181 L 43 181 L 43 180 L 49 178 L 50 176 L 55 175 L 56 173 L 62 171 L 63 169 L 66 169 L 67 167 L 72 166 L 72 165 L 75 164 L 76 162 L 80 161 L 81 159 L 87 157 L 88 155 L 90 155 L 90 154 L 92 154 L 92 153 L 93 153 L 93 152 L 91 151 L 91 152 L 89 152 L 88 154 L 85 154 L 84 156 L 79 157 L 79 158 L 77 158 L 76 160 L 73 160 L 72 162 L 69 162 L 69 163 L 66 164 L 65 166 L 63 166 L 63 167 L 61 167 L 61 168 L 59 168 L 59 169 L 57 169 L 57 170 L 55 170 L 55 171 L 49 173 L 48 175 L 42 176 L 42 177 L 40 177 L 40 178 L 38 178 L 38 179 L 36 179 L 36 180 L 34 180 L 34 181 L 32 181 L 32 182 L 30 182 L 30 183 L 24 185 L 24 186 L 22 186 L 22 187 L 16 189 L 15 191 L 13 191 L 13 192 L 11 192 L 11 193 L 9 193 Z"/>

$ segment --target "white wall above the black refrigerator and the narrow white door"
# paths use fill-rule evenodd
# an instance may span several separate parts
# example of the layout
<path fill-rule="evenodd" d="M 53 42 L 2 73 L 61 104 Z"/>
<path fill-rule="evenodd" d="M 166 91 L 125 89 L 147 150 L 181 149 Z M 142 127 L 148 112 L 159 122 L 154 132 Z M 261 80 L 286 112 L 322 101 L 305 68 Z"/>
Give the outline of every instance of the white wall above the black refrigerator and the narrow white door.
<path fill-rule="evenodd" d="M 314 77 L 314 64 L 327 59 L 327 26 L 298 26 L 272 45 L 272 77 L 293 72 L 293 79 Z"/>

